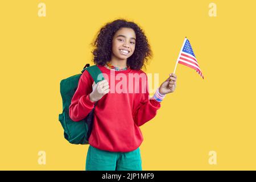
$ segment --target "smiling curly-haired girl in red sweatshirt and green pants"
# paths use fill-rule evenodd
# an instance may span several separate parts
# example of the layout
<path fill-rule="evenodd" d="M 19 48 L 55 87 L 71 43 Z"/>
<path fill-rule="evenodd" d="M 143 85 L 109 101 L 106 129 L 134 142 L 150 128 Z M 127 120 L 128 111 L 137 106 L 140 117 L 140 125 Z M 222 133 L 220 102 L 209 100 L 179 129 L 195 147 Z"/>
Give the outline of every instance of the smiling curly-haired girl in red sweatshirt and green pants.
<path fill-rule="evenodd" d="M 141 68 L 152 53 L 143 30 L 134 22 L 118 19 L 107 23 L 93 46 L 93 61 L 105 80 L 95 84 L 84 71 L 69 106 L 71 119 L 80 121 L 98 101 L 85 169 L 141 171 L 139 126 L 155 117 L 166 94 L 174 92 L 177 76 L 170 74 L 149 98 L 147 75 Z"/>

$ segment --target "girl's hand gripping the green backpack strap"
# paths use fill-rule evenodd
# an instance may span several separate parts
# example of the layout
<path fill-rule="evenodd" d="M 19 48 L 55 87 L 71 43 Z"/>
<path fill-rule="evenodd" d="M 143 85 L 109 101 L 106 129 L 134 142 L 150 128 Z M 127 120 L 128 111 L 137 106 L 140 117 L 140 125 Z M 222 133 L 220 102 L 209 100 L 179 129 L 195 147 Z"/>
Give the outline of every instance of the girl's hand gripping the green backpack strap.
<path fill-rule="evenodd" d="M 90 101 L 96 102 L 100 100 L 105 94 L 109 93 L 109 82 L 107 80 L 101 80 L 95 84 L 93 82 L 93 91 L 89 94 Z"/>

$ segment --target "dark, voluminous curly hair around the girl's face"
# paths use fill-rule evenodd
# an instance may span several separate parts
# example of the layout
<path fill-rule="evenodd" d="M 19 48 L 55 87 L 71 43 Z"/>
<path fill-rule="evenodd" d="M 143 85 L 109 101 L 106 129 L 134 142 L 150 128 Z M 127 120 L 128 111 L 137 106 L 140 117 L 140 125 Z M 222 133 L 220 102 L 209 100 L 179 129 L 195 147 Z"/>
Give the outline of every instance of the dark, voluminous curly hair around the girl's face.
<path fill-rule="evenodd" d="M 106 23 L 97 33 L 97 38 L 93 41 L 93 62 L 96 65 L 104 66 L 111 59 L 112 40 L 115 32 L 120 28 L 133 28 L 136 35 L 136 45 L 133 55 L 127 58 L 127 66 L 131 69 L 146 68 L 145 62 L 152 57 L 152 51 L 143 30 L 134 22 L 125 19 L 117 19 Z"/>

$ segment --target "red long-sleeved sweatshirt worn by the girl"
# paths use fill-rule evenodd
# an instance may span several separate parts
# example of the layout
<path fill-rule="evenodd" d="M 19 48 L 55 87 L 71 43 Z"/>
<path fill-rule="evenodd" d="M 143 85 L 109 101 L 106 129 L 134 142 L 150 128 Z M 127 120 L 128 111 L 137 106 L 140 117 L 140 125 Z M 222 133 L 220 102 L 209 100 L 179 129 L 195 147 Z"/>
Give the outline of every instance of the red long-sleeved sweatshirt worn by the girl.
<path fill-rule="evenodd" d="M 89 144 L 112 152 L 133 151 L 141 146 L 143 141 L 139 126 L 155 117 L 160 102 L 149 98 L 147 75 L 142 70 L 128 68 L 125 71 L 113 71 L 101 65 L 97 67 L 108 80 L 110 92 L 97 102 Z M 146 79 L 130 79 L 130 76 L 136 73 Z M 126 78 L 123 78 L 124 76 Z M 69 117 L 75 122 L 84 119 L 93 109 L 94 102 L 89 99 L 92 84 L 93 78 L 85 70 L 69 106 Z M 138 85 L 139 92 L 136 92 Z M 130 89 L 133 92 L 130 92 Z M 143 92 L 143 89 L 146 92 Z"/>

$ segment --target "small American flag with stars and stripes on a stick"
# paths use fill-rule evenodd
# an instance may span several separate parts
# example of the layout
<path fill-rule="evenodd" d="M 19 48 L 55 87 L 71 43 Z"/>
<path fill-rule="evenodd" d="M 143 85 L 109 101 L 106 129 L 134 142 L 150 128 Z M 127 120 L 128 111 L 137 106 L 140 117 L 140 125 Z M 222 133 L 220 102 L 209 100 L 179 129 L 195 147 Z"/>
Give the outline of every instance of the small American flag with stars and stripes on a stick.
<path fill-rule="evenodd" d="M 191 44 L 189 43 L 189 40 L 187 38 L 185 38 L 183 42 L 183 47 L 181 47 L 180 55 L 177 61 L 180 64 L 195 69 L 195 71 L 199 73 L 199 75 L 204 79 L 203 73 L 201 72 L 199 64 L 196 60 L 195 53 L 193 52 Z"/>

